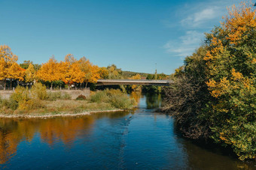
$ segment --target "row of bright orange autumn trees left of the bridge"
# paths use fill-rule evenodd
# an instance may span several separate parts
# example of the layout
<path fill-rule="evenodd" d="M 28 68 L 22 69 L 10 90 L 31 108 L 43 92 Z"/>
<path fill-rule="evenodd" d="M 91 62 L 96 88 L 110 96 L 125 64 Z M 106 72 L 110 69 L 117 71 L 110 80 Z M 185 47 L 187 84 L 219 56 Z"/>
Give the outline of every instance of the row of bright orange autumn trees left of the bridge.
<path fill-rule="evenodd" d="M 70 88 L 73 83 L 82 84 L 85 82 L 96 82 L 99 78 L 108 75 L 106 67 L 93 65 L 87 58 L 75 59 L 72 54 L 66 55 L 64 61 L 56 61 L 50 58 L 47 63 L 40 65 L 32 62 L 17 64 L 18 57 L 11 52 L 9 46 L 0 46 L 0 80 L 4 82 L 6 88 L 7 79 L 11 81 L 19 80 L 32 84 L 35 80 L 50 83 L 53 88 L 53 82 L 64 82 Z M 10 86 L 11 86 L 10 85 Z"/>

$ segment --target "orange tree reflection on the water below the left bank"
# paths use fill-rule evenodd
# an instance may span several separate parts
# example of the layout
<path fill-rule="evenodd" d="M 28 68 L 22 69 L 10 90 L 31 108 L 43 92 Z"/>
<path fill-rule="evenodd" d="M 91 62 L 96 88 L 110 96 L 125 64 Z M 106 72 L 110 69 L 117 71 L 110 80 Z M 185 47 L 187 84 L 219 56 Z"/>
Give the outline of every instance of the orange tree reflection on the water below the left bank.
<path fill-rule="evenodd" d="M 52 119 L 5 119 L 0 120 L 0 164 L 6 163 L 17 152 L 17 145 L 23 140 L 31 142 L 36 132 L 49 145 L 61 140 L 65 145 L 72 145 L 75 137 L 81 132 L 90 133 L 95 118 Z"/>

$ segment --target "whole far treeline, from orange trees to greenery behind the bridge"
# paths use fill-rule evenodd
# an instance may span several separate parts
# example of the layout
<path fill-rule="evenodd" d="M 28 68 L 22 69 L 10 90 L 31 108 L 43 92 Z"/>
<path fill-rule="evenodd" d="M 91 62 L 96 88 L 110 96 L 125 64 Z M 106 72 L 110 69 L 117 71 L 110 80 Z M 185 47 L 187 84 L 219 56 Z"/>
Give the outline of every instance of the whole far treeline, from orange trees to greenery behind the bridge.
<path fill-rule="evenodd" d="M 18 57 L 11 52 L 6 45 L 0 46 L 0 80 L 4 89 L 13 87 L 13 82 L 18 80 L 21 85 L 31 86 L 35 82 L 41 82 L 47 87 L 63 88 L 67 85 L 75 85 L 78 88 L 87 88 L 88 83 L 93 85 L 98 79 L 145 79 L 141 75 L 147 75 L 147 79 L 168 79 L 169 76 L 161 74 L 147 74 L 122 71 L 114 64 L 108 67 L 98 67 L 87 58 L 76 59 L 68 54 L 63 61 L 50 58 L 44 64 L 33 64 L 32 61 L 24 61 L 17 64 Z M 8 83 L 7 83 L 8 82 Z M 15 85 L 16 86 L 16 85 Z"/>

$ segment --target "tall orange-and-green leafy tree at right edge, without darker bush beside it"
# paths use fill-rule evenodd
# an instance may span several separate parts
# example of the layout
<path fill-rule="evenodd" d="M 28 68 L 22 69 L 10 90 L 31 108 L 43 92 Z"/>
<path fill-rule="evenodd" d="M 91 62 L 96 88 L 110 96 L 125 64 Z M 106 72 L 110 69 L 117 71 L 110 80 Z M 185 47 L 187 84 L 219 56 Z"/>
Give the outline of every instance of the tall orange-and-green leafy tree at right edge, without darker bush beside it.
<path fill-rule="evenodd" d="M 232 145 L 241 160 L 256 157 L 256 10 L 231 7 L 222 27 L 208 34 L 204 60 L 213 139 Z"/>

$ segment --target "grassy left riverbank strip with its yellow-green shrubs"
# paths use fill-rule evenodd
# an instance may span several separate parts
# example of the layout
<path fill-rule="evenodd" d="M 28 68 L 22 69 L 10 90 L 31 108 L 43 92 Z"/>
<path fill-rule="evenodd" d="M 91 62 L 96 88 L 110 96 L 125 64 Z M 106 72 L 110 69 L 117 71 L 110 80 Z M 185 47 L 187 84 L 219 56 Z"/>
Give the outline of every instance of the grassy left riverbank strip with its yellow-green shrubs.
<path fill-rule="evenodd" d="M 10 99 L 0 100 L 2 115 L 57 115 L 77 114 L 81 112 L 131 109 L 136 106 L 134 99 L 120 90 L 93 92 L 87 99 L 79 96 L 71 100 L 69 94 L 48 92 L 41 83 L 35 83 L 31 89 L 17 87 Z"/>

